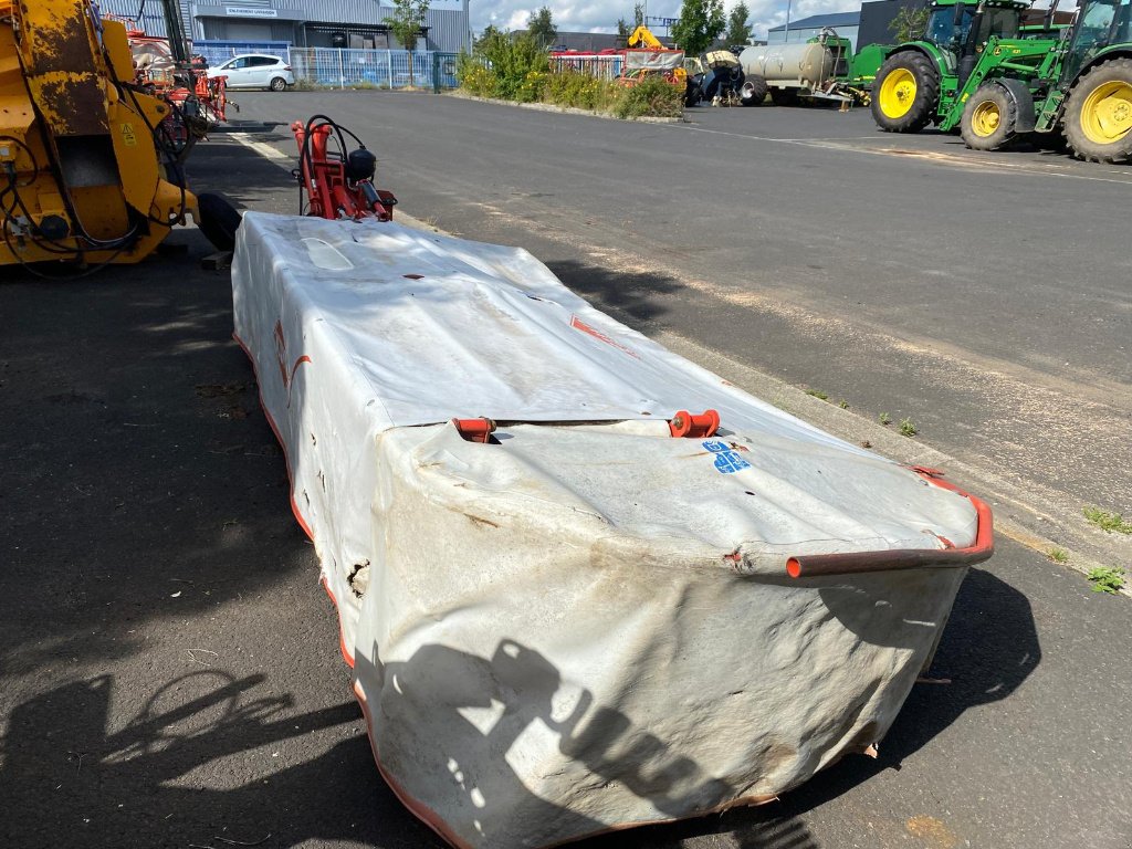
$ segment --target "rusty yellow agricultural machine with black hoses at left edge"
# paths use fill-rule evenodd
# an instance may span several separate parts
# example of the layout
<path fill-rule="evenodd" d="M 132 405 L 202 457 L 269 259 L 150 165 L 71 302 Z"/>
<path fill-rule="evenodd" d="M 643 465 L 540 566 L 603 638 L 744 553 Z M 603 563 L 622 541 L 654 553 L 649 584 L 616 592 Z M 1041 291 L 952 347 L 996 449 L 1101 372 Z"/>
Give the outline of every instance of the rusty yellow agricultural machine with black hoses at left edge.
<path fill-rule="evenodd" d="M 198 218 L 171 109 L 137 84 L 126 26 L 94 3 L 0 0 L 0 265 L 137 263 Z"/>

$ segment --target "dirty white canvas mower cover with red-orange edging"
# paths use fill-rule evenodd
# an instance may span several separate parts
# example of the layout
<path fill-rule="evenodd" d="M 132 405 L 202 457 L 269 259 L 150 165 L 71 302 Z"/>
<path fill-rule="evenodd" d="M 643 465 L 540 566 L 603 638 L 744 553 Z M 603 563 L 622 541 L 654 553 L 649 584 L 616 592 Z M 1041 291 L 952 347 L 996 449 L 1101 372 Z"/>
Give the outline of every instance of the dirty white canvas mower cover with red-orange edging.
<path fill-rule="evenodd" d="M 945 561 L 989 539 L 975 499 L 521 249 L 249 213 L 232 283 L 374 754 L 453 846 L 766 801 L 868 751 L 947 619 Z M 670 435 L 707 409 L 717 434 Z M 491 443 L 452 421 L 475 417 Z"/>

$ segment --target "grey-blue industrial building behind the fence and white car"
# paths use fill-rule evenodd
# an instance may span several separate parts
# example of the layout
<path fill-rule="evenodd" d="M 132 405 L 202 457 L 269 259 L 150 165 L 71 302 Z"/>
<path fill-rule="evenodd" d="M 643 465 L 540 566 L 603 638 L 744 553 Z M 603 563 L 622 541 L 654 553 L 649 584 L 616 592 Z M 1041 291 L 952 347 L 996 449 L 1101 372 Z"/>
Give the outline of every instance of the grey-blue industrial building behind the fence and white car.
<path fill-rule="evenodd" d="M 103 0 L 102 10 L 136 20 L 151 35 L 164 35 L 156 3 Z M 379 0 L 181 0 L 186 33 L 194 41 L 280 42 L 298 48 L 397 49 L 384 23 L 393 6 Z M 456 52 L 470 44 L 468 0 L 431 0 L 418 50 Z"/>

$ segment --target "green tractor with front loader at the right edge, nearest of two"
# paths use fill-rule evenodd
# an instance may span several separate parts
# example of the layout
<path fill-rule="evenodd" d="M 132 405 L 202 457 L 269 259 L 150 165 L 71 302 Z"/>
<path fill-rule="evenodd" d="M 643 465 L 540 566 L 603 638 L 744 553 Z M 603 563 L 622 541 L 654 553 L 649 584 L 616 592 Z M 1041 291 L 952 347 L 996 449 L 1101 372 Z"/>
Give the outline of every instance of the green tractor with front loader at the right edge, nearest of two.
<path fill-rule="evenodd" d="M 941 111 L 975 149 L 1061 131 L 1079 158 L 1132 161 L 1132 0 L 1079 0 L 1057 40 L 992 37 Z"/>

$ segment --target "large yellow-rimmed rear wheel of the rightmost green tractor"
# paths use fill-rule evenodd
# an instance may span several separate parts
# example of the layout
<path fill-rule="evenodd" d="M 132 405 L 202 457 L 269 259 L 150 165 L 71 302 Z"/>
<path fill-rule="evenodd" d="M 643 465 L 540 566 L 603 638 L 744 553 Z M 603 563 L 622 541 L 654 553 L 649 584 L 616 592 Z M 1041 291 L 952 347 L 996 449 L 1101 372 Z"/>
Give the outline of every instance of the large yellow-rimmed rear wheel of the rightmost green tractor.
<path fill-rule="evenodd" d="M 1113 59 L 1081 77 L 1065 101 L 1065 138 L 1086 162 L 1132 160 L 1132 59 Z"/>

